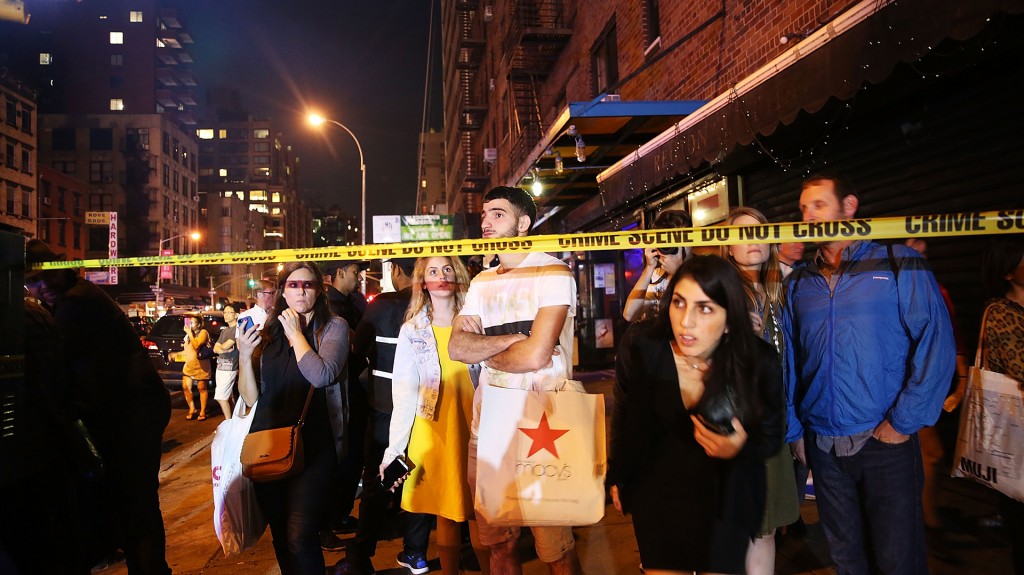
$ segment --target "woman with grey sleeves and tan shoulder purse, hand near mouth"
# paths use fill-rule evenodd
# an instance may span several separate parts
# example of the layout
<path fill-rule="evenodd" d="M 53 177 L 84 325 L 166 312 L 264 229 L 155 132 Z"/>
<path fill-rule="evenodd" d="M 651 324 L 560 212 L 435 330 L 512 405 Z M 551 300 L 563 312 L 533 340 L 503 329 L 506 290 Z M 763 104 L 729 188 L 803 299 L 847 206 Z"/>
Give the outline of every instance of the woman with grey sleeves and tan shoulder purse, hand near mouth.
<path fill-rule="evenodd" d="M 256 483 L 283 575 L 323 575 L 319 527 L 342 450 L 345 421 L 340 382 L 348 359 L 348 324 L 331 313 L 324 277 L 308 262 L 285 266 L 259 333 L 238 339 L 239 393 L 256 406 L 251 432 L 294 426 L 312 389 L 302 427 L 304 466 L 292 477 Z"/>

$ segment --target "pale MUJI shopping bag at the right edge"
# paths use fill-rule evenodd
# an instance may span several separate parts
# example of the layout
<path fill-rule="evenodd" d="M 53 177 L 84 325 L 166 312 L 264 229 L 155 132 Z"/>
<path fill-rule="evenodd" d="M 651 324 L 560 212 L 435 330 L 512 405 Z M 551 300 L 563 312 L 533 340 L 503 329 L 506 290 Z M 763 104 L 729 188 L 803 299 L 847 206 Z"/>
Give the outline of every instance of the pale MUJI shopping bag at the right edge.
<path fill-rule="evenodd" d="M 1024 501 L 1024 398 L 1016 380 L 971 367 L 953 477 Z"/>

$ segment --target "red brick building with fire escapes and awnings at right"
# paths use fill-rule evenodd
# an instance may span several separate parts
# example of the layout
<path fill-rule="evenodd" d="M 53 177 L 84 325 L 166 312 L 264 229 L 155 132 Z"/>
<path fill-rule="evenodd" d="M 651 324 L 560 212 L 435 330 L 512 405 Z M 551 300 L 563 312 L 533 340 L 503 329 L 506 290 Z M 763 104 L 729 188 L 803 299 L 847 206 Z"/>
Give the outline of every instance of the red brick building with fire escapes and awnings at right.
<path fill-rule="evenodd" d="M 1020 208 L 1020 3 L 994 0 L 449 0 L 442 3 L 449 205 L 540 182 L 547 233 L 643 226 L 681 208 L 799 219 L 800 181 L 850 174 L 866 216 Z M 579 150 L 579 153 L 578 153 Z M 581 160 L 578 160 L 581 159 Z M 717 211 L 698 206 L 717 203 Z M 698 218 L 699 219 L 699 218 Z M 930 260 L 966 333 L 981 238 Z M 580 359 L 607 362 L 639 254 L 566 255 Z M 590 279 L 612 265 L 615 285 Z M 607 277 L 605 275 L 605 277 Z"/>

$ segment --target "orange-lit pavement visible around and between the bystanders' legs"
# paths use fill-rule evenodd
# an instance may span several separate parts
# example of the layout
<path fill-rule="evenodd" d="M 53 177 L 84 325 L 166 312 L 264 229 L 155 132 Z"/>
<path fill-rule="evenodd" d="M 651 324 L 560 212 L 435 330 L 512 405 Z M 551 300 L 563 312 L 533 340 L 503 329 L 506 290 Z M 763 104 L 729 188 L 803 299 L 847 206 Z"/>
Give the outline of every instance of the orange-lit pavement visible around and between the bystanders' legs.
<path fill-rule="evenodd" d="M 604 394 L 607 413 L 611 413 L 610 370 L 577 373 L 588 391 Z M 184 421 L 180 391 L 175 398 L 171 425 L 165 433 L 165 453 L 161 466 L 161 508 L 167 531 L 167 561 L 179 575 L 276 575 L 278 568 L 269 531 L 259 542 L 237 557 L 225 558 L 213 530 L 213 501 L 210 479 L 210 443 L 220 415 L 206 422 Z M 952 562 L 930 557 L 930 570 L 936 575 L 1012 573 L 1007 541 L 997 527 L 986 526 L 995 514 L 992 492 L 964 480 L 940 478 L 939 503 L 950 529 L 941 549 Z M 357 506 L 357 505 L 356 505 Z M 776 573 L 779 575 L 824 575 L 835 573 L 828 559 L 827 544 L 818 523 L 813 500 L 804 501 L 801 515 L 807 525 L 803 536 L 780 534 Z M 528 532 L 528 530 L 524 530 Z M 628 517 L 610 504 L 598 524 L 573 529 L 584 573 L 592 575 L 640 573 L 640 556 Z M 342 538 L 351 537 L 343 535 Z M 520 540 L 524 575 L 547 575 L 537 559 L 531 541 L 524 533 Z M 395 556 L 401 539 L 381 541 L 374 566 L 381 575 L 407 575 Z M 344 557 L 343 551 L 325 551 L 328 566 Z M 431 538 L 428 558 L 432 570 L 439 572 L 437 554 Z M 95 575 L 124 575 L 124 562 L 93 571 Z"/>

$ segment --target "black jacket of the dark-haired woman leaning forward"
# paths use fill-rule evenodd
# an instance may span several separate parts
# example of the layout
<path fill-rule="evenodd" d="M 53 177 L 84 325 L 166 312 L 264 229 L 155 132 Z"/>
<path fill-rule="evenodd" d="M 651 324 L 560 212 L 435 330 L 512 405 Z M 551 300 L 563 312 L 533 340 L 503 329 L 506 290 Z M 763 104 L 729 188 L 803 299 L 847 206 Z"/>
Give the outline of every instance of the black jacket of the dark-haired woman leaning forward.
<path fill-rule="evenodd" d="M 678 503 L 686 515 L 701 505 L 720 521 L 758 532 L 765 506 L 764 461 L 781 446 L 784 414 L 778 353 L 758 342 L 760 421 L 743 422 L 749 438 L 734 458 L 715 459 L 693 439 L 669 341 L 653 337 L 650 322 L 630 326 L 615 361 L 607 477 L 608 485 L 618 486 L 625 510 Z M 645 495 L 657 484 L 672 484 L 679 497 Z M 703 494 L 687 494 L 695 491 Z"/>

